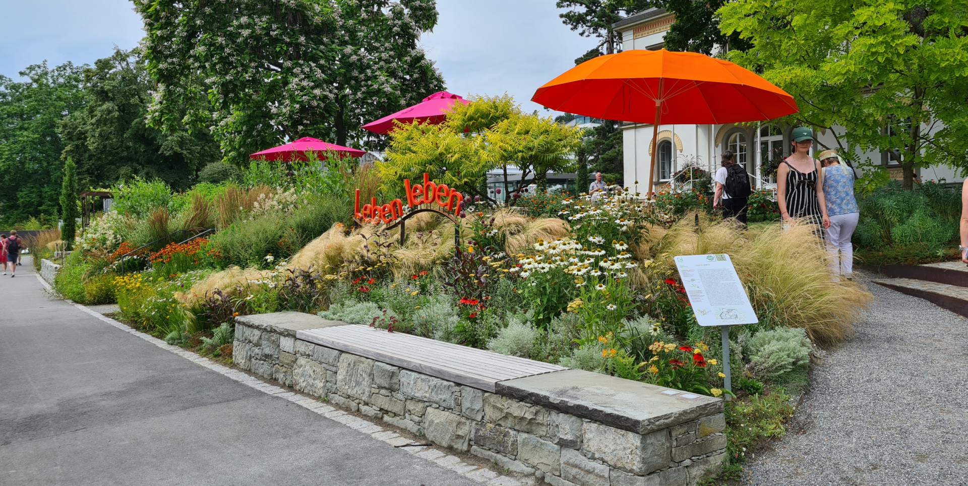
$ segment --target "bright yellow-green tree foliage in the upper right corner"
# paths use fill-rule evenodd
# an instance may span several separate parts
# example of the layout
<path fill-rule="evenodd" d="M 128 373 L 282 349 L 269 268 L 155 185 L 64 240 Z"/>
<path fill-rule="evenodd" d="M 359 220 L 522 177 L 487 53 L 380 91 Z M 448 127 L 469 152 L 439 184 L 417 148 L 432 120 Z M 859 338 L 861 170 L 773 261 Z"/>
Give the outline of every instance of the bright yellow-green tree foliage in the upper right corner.
<path fill-rule="evenodd" d="M 909 189 L 916 167 L 968 168 L 963 2 L 735 0 L 718 13 L 751 43 L 729 58 L 796 98 L 789 122 L 831 131 L 847 157 L 896 150 Z"/>

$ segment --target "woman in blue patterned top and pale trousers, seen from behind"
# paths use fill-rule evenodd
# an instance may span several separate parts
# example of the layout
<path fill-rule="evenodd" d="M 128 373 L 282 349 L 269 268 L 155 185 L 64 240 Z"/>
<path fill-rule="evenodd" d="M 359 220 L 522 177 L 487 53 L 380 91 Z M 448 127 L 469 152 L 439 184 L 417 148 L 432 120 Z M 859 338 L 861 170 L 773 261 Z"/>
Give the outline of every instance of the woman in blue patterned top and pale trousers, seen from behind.
<path fill-rule="evenodd" d="M 821 165 L 821 192 L 831 222 L 825 233 L 831 269 L 833 275 L 853 280 L 854 245 L 850 239 L 861 216 L 861 208 L 854 197 L 854 169 L 847 167 L 835 150 L 825 150 L 817 159 Z"/>

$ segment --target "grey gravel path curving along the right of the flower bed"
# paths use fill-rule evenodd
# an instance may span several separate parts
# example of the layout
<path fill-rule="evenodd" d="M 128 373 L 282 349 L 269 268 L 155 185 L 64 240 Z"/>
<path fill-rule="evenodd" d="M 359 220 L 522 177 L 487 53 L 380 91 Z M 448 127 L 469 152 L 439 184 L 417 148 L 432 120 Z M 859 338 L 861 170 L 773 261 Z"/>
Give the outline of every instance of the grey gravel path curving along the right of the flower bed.
<path fill-rule="evenodd" d="M 813 367 L 791 432 L 742 484 L 968 485 L 968 319 L 870 277 L 856 335 Z"/>

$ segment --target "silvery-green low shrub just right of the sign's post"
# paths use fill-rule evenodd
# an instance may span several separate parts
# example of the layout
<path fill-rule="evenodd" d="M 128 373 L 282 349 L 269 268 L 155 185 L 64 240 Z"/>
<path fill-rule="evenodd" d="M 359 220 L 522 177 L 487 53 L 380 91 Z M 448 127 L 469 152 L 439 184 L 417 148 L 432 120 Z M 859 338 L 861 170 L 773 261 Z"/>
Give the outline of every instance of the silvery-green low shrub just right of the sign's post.
<path fill-rule="evenodd" d="M 778 327 L 752 335 L 743 344 L 750 369 L 758 376 L 778 380 L 810 364 L 810 340 L 798 327 Z"/>

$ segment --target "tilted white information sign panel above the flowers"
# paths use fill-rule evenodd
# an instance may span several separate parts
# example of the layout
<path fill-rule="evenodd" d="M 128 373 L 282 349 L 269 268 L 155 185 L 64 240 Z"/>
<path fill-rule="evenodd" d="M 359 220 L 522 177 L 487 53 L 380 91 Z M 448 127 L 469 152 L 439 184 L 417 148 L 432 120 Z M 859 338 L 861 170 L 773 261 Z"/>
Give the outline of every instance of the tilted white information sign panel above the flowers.
<path fill-rule="evenodd" d="M 682 287 L 702 326 L 755 324 L 756 311 L 729 255 L 676 257 Z"/>

